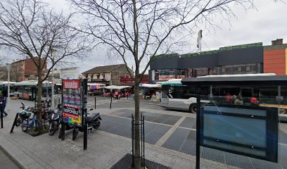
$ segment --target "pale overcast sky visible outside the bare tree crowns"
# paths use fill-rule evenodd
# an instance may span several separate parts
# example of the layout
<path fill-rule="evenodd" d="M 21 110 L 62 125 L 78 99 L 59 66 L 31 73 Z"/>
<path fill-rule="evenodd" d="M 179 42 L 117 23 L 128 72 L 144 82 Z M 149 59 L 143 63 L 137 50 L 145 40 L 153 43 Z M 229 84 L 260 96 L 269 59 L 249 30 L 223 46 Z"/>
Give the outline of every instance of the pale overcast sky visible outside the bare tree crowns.
<path fill-rule="evenodd" d="M 68 11 L 69 5 L 65 0 L 45 0 L 56 10 Z M 285 0 L 283 0 L 285 1 Z M 202 50 L 208 51 L 219 49 L 223 46 L 232 46 L 239 44 L 249 44 L 263 42 L 263 45 L 271 44 L 271 41 L 277 38 L 283 38 L 287 43 L 287 4 L 274 3 L 272 0 L 255 0 L 256 9 L 244 11 L 242 8 L 234 8 L 236 18 L 231 19 L 229 23 L 218 21 L 220 29 L 204 30 Z M 190 38 L 191 46 L 183 49 L 180 53 L 196 52 L 196 36 Z M 107 60 L 105 49 L 100 49 L 91 53 L 80 65 L 80 73 L 99 65 L 110 65 L 123 63 L 122 60 Z M 132 67 L 132 61 L 128 63 Z M 147 72 L 146 72 L 147 73 Z"/>

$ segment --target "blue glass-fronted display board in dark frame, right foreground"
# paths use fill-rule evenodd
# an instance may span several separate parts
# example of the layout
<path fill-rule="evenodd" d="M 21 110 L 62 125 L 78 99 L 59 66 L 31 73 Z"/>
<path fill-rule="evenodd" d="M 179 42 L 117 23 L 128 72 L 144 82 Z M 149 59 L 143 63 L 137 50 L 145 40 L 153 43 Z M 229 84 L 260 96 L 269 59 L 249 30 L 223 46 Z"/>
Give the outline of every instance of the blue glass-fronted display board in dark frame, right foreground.
<path fill-rule="evenodd" d="M 200 145 L 277 162 L 277 109 L 207 104 L 200 108 Z"/>

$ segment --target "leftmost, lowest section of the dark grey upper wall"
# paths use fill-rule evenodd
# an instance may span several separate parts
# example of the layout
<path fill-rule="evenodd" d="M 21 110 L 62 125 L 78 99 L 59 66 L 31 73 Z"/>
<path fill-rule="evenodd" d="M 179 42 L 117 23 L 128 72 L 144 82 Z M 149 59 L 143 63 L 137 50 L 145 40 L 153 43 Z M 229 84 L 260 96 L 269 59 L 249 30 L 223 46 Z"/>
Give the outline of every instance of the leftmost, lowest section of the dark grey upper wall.
<path fill-rule="evenodd" d="M 177 68 L 177 62 L 179 60 L 179 56 L 166 56 L 161 58 L 155 58 L 153 62 L 151 62 L 151 69 L 165 69 L 165 68 Z"/>

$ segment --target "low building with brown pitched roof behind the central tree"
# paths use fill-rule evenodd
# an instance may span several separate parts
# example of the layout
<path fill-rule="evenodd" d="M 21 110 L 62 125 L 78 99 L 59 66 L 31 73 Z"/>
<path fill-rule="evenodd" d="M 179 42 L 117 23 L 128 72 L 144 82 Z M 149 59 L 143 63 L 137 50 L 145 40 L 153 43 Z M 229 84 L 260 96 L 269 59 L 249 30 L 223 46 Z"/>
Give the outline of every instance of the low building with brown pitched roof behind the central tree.
<path fill-rule="evenodd" d="M 125 64 L 119 64 L 98 66 L 85 71 L 82 75 L 84 78 L 87 78 L 89 82 L 120 85 L 120 77 L 129 76 L 129 72 L 127 71 Z"/>

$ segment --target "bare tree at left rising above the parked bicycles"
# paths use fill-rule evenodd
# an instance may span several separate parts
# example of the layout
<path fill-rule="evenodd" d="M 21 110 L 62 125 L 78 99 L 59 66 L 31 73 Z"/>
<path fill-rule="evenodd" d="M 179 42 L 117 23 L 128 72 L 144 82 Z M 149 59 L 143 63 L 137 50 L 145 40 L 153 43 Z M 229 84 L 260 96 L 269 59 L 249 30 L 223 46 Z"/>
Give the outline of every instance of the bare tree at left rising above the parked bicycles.
<path fill-rule="evenodd" d="M 72 29 L 71 23 L 72 14 L 56 13 L 39 0 L 0 2 L 0 46 L 31 58 L 37 67 L 37 117 L 40 121 L 42 82 L 58 62 L 81 58 L 89 47 L 80 32 Z"/>

